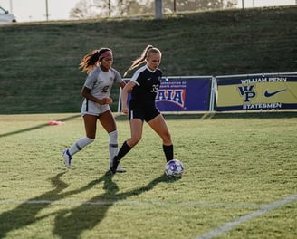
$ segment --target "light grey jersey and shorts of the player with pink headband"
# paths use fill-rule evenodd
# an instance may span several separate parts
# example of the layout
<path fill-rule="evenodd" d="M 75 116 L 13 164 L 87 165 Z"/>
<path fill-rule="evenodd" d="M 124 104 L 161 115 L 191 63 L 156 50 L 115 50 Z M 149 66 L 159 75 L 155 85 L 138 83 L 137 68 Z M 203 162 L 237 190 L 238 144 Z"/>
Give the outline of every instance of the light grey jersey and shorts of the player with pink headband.
<path fill-rule="evenodd" d="M 100 67 L 93 69 L 88 75 L 84 87 L 91 90 L 91 95 L 103 99 L 110 97 L 110 91 L 114 81 L 121 82 L 121 76 L 118 71 L 110 68 L 109 72 L 103 72 Z M 101 105 L 91 100 L 84 99 L 81 106 L 81 114 L 100 115 L 105 111 L 110 110 L 108 104 Z"/>

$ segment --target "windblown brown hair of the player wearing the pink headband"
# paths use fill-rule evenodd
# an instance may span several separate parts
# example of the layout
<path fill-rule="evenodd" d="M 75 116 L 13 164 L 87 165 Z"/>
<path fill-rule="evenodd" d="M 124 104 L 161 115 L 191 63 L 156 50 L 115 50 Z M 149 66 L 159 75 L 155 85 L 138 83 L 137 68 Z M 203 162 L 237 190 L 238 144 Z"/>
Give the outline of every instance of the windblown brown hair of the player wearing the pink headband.
<path fill-rule="evenodd" d="M 88 53 L 86 55 L 83 56 L 83 58 L 81 59 L 80 62 L 80 69 L 81 72 L 91 72 L 91 70 L 98 65 L 99 61 L 101 61 L 101 55 L 103 53 L 106 53 L 110 50 L 110 48 L 101 48 L 99 50 L 93 50 L 91 51 L 91 53 Z"/>

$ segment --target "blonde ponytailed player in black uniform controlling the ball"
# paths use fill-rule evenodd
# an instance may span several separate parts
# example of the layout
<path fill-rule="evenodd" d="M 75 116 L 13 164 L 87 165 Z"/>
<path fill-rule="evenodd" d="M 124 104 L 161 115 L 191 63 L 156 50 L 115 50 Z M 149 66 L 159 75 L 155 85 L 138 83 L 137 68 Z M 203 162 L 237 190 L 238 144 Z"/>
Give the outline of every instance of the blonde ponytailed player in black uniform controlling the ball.
<path fill-rule="evenodd" d="M 118 155 L 113 158 L 110 171 L 116 173 L 116 169 L 131 148 L 139 143 L 142 136 L 143 121 L 148 122 L 151 129 L 158 134 L 163 141 L 163 150 L 166 160 L 173 159 L 173 145 L 168 126 L 156 107 L 156 96 L 162 78 L 162 72 L 158 69 L 162 53 L 158 48 L 148 45 L 142 55 L 133 61 L 128 71 L 138 67 L 142 62 L 146 64 L 134 72 L 130 81 L 123 88 L 121 94 L 121 111 L 129 114 L 131 137 L 121 146 Z M 126 73 L 124 76 L 126 75 Z M 127 106 L 128 93 L 131 94 L 129 108 Z"/>

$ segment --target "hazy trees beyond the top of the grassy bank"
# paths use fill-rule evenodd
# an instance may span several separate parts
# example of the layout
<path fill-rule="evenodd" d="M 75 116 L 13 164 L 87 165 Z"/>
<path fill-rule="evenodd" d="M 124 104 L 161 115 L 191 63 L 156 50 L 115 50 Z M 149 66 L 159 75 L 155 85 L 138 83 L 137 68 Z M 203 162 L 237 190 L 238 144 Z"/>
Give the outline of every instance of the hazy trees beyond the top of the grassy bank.
<path fill-rule="evenodd" d="M 162 0 L 164 14 L 233 8 L 238 0 Z M 71 10 L 72 19 L 155 14 L 155 0 L 80 0 Z"/>

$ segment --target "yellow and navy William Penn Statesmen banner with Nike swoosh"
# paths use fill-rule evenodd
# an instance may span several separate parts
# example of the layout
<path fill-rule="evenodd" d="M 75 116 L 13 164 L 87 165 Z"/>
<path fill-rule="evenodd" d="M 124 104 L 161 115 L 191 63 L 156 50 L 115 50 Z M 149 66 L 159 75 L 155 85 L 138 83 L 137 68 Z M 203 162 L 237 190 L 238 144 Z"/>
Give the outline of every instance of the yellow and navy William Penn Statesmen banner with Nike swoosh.
<path fill-rule="evenodd" d="M 245 75 L 216 78 L 216 110 L 297 108 L 297 75 Z"/>

